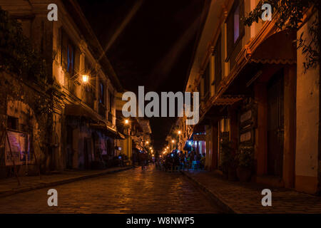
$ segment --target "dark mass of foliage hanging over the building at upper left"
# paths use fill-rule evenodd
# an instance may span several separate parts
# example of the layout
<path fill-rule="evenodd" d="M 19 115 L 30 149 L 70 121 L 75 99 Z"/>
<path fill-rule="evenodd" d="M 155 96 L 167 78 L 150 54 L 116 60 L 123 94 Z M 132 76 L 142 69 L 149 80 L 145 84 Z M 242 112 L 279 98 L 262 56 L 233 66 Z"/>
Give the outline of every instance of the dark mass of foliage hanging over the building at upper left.
<path fill-rule="evenodd" d="M 46 61 L 23 34 L 21 24 L 0 7 L 0 70 L 46 82 Z"/>

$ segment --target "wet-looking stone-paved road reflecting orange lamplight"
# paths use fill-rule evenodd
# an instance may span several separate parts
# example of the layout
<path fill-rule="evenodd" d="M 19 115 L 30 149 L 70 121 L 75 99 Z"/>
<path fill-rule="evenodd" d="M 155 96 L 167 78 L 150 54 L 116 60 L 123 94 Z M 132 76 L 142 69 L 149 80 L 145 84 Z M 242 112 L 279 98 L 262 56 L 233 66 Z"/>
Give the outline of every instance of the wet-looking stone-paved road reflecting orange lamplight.
<path fill-rule="evenodd" d="M 51 187 L 58 207 L 47 204 L 48 189 L 0 198 L 0 213 L 219 213 L 180 173 L 148 167 Z"/>

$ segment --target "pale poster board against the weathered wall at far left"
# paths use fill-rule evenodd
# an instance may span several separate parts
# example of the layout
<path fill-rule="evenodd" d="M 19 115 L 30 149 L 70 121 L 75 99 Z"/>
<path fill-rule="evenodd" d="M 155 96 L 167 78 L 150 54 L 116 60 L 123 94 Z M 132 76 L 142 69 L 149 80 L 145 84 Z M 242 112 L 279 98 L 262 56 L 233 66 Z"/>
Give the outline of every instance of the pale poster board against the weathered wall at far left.
<path fill-rule="evenodd" d="M 6 165 L 24 165 L 31 163 L 30 155 L 30 135 L 7 130 L 5 162 Z M 11 152 L 9 142 L 11 146 Z"/>

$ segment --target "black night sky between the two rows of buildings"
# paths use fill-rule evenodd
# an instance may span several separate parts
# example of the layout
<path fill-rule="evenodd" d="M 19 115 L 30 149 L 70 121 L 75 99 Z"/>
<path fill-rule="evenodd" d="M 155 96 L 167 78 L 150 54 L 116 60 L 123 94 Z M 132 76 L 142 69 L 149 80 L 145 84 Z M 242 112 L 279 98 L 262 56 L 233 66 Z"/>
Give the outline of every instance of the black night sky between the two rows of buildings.
<path fill-rule="evenodd" d="M 123 88 L 183 91 L 204 0 L 78 0 Z M 157 150 L 175 118 L 151 118 Z"/>

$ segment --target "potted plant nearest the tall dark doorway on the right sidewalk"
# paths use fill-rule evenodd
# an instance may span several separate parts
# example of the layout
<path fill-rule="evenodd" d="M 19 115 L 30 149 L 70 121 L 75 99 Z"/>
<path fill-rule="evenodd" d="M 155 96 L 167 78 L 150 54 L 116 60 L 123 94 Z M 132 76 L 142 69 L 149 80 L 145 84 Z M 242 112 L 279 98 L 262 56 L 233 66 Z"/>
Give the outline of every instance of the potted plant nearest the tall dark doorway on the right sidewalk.
<path fill-rule="evenodd" d="M 236 158 L 238 161 L 238 168 L 236 169 L 238 179 L 240 180 L 240 182 L 250 181 L 254 165 L 253 146 L 240 147 Z"/>

